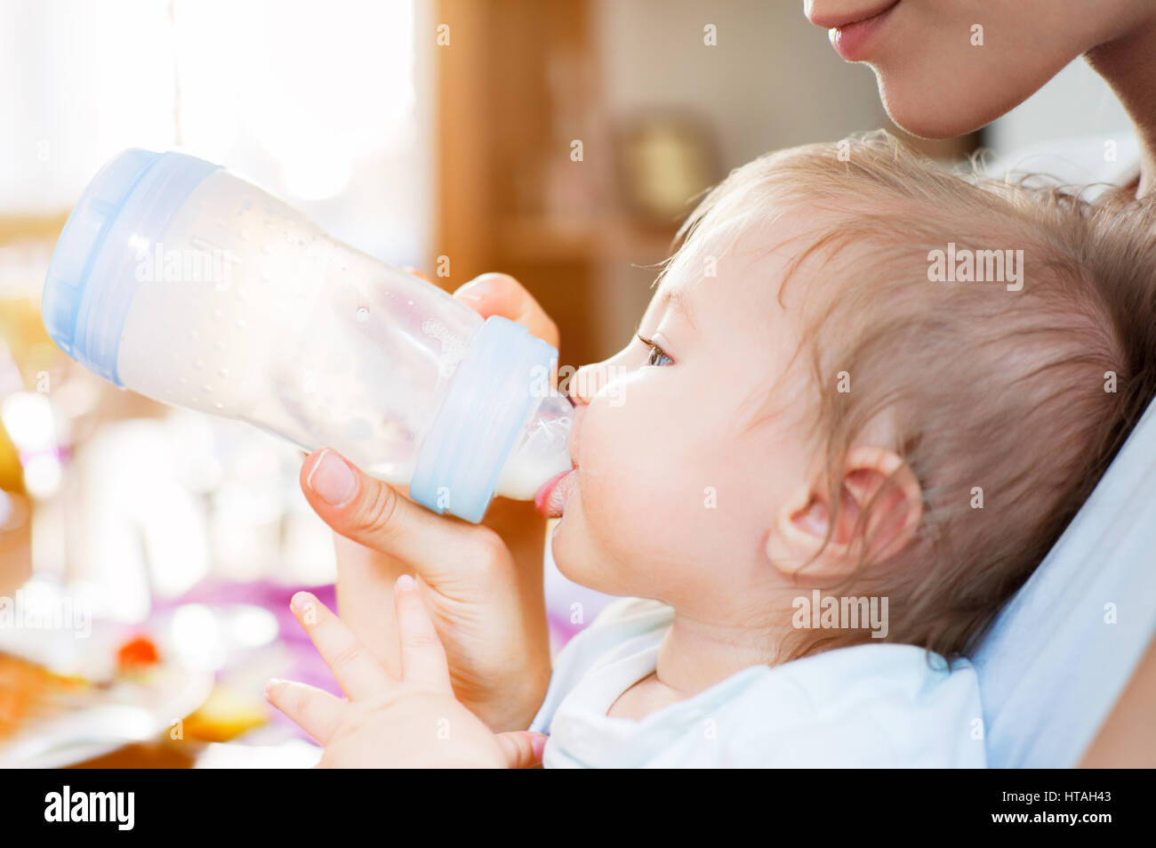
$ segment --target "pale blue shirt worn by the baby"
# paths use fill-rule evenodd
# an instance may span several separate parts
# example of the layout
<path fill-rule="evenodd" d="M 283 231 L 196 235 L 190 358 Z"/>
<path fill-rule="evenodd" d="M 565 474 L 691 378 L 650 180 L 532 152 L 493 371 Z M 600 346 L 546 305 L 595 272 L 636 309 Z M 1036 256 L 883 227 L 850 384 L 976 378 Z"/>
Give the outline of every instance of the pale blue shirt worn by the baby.
<path fill-rule="evenodd" d="M 607 716 L 654 671 L 674 611 L 624 598 L 558 654 L 531 730 L 546 768 L 985 766 L 976 672 L 907 644 L 755 665 L 640 720 Z"/>

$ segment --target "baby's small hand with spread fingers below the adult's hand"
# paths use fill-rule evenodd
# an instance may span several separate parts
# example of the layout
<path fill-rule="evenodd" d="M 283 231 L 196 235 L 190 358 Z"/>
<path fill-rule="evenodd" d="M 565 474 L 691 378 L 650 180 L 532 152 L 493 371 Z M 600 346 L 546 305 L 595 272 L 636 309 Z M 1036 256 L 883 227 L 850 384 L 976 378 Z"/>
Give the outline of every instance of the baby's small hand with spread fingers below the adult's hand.
<path fill-rule="evenodd" d="M 269 701 L 325 745 L 333 768 L 526 768 L 541 762 L 546 737 L 494 733 L 453 696 L 445 649 L 417 583 L 394 585 L 401 679 L 394 678 L 346 624 L 309 592 L 290 604 L 348 695 L 271 680 Z"/>

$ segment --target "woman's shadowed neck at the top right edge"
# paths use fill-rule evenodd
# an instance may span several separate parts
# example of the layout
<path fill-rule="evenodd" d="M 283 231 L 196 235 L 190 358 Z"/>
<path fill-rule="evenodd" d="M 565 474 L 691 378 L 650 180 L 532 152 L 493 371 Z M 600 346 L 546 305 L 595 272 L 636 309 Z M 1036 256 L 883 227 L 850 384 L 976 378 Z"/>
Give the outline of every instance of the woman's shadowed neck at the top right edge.
<path fill-rule="evenodd" d="M 1124 104 L 1140 138 L 1136 197 L 1156 191 L 1156 7 L 1085 58 Z"/>

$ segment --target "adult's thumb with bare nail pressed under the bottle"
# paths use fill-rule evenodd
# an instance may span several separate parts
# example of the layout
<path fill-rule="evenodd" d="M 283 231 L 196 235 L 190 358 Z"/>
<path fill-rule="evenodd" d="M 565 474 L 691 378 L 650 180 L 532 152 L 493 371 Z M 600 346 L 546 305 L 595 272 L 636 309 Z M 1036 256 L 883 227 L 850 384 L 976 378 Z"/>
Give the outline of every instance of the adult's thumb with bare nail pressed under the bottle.
<path fill-rule="evenodd" d="M 301 487 L 313 510 L 341 536 L 398 558 L 430 583 L 450 576 L 446 569 L 476 560 L 479 528 L 417 506 L 332 448 L 309 455 Z"/>

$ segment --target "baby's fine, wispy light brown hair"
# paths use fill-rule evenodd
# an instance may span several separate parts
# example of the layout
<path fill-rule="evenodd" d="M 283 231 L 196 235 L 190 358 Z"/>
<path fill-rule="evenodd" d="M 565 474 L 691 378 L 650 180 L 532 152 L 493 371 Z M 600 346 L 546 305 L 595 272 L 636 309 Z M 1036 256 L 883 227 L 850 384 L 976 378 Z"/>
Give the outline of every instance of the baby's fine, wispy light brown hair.
<path fill-rule="evenodd" d="M 881 447 L 924 500 L 912 543 L 861 561 L 840 587 L 889 598 L 887 641 L 948 658 L 975 650 L 1156 392 L 1156 204 L 1032 183 L 949 171 L 883 132 L 792 148 L 712 190 L 664 271 L 784 209 L 822 222 L 798 243 L 779 298 L 802 263 L 817 264 L 824 282 L 806 292 L 795 362 L 816 390 L 831 525 L 844 457 L 880 420 L 895 440 Z M 931 281 L 932 251 L 948 243 L 1023 250 L 1022 288 Z M 850 391 L 837 388 L 844 371 Z M 868 639 L 801 632 L 780 659 Z"/>

